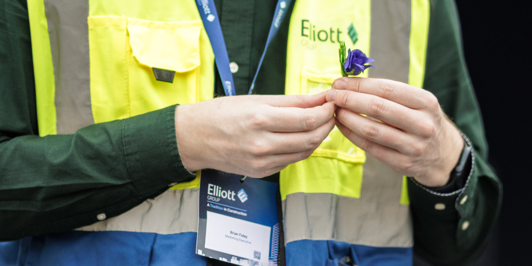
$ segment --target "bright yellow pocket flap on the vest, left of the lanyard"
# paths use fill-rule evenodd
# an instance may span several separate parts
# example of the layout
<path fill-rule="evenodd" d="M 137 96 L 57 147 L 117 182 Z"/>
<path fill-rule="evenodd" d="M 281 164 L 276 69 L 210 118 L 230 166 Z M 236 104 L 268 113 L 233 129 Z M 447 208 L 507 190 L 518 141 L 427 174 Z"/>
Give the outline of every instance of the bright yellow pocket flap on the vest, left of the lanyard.
<path fill-rule="evenodd" d="M 135 61 L 149 68 L 187 72 L 200 65 L 201 21 L 128 19 Z"/>

